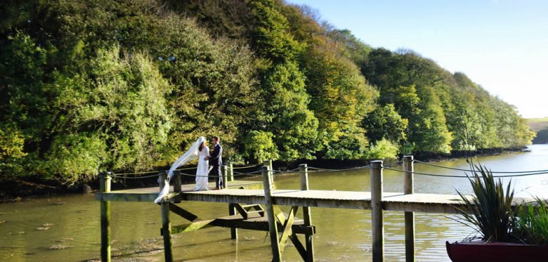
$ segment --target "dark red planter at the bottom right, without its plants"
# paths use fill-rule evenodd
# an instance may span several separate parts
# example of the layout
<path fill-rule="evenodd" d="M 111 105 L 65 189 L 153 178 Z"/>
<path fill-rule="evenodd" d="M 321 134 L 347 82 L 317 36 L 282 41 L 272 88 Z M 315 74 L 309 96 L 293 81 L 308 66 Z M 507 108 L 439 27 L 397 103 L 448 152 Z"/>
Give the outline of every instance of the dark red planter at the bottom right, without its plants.
<path fill-rule="evenodd" d="M 548 246 L 521 243 L 445 242 L 453 262 L 541 262 L 548 261 Z"/>

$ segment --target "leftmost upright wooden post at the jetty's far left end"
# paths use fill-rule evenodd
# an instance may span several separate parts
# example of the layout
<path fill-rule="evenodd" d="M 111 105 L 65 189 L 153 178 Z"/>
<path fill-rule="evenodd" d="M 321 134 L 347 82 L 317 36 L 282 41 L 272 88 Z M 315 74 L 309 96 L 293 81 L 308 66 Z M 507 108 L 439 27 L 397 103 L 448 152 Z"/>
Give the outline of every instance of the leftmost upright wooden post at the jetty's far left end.
<path fill-rule="evenodd" d="M 99 174 L 99 191 L 111 191 L 111 172 Z M 111 201 L 101 201 L 101 261 L 111 262 Z"/>

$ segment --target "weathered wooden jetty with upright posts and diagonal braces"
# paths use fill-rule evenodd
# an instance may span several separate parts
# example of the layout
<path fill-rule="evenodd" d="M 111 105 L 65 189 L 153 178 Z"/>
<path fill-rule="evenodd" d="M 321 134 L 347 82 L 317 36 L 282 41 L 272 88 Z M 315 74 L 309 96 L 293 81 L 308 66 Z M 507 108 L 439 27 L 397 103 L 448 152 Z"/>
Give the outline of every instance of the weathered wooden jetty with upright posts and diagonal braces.
<path fill-rule="evenodd" d="M 270 232 L 272 261 L 281 261 L 285 242 L 290 240 L 300 253 L 303 261 L 314 261 L 313 235 L 310 207 L 370 209 L 372 211 L 372 256 L 373 261 L 384 261 L 384 211 L 405 212 L 405 256 L 406 261 L 415 261 L 415 212 L 457 213 L 463 203 L 460 196 L 413 193 L 413 158 L 403 158 L 405 169 L 404 192 L 383 192 L 382 161 L 370 163 L 370 192 L 364 191 L 320 191 L 308 188 L 308 168 L 299 166 L 301 190 L 274 189 L 271 162 L 262 169 L 263 189 L 250 189 L 256 186 L 253 181 L 228 182 L 228 188 L 216 191 L 192 191 L 193 185 L 181 185 L 175 176 L 172 193 L 160 203 L 166 261 L 173 261 L 171 234 L 222 226 L 230 229 L 231 238 L 237 238 L 237 229 L 249 229 Z M 227 173 L 233 169 L 225 168 Z M 165 173 L 160 174 L 164 181 Z M 96 199 L 101 201 L 101 260 L 110 260 L 110 201 L 141 201 L 152 203 L 158 196 L 159 188 L 137 188 L 120 191 L 110 190 L 111 178 L 101 178 L 101 192 Z M 225 180 L 226 181 L 226 180 Z M 163 184 L 160 185 L 160 188 Z M 176 203 L 181 201 L 203 201 L 228 203 L 229 216 L 215 219 L 201 219 L 184 210 Z M 516 203 L 523 200 L 515 199 Z M 265 206 L 265 208 L 263 208 Z M 277 206 L 291 206 L 289 213 L 282 213 Z M 303 219 L 295 218 L 298 208 L 303 208 Z M 171 226 L 170 213 L 186 218 L 188 224 Z M 300 243 L 297 234 L 305 235 L 305 243 Z"/>

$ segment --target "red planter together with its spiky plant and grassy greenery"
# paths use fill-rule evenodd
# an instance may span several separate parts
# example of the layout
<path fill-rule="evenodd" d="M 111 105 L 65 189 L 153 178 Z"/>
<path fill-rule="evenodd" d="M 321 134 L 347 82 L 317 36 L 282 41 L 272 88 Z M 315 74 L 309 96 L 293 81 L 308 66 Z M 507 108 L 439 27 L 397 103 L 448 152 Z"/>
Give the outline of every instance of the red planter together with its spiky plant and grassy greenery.
<path fill-rule="evenodd" d="M 474 228 L 480 237 L 446 242 L 451 260 L 548 261 L 546 202 L 537 198 L 537 203 L 512 207 L 514 190 L 511 182 L 504 188 L 502 180 L 495 180 L 493 173 L 484 166 L 475 166 L 473 170 L 469 177 L 473 195 L 457 192 L 465 203 L 457 210 L 464 218 L 464 222 L 460 222 Z"/>

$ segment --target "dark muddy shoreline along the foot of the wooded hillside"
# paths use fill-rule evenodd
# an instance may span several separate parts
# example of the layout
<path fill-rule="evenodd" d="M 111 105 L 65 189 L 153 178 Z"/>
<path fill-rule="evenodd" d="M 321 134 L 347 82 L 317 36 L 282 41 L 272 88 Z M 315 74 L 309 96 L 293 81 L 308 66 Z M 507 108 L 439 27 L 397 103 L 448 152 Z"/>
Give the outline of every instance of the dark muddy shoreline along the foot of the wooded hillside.
<path fill-rule="evenodd" d="M 495 156 L 502 153 L 512 153 L 524 151 L 524 148 L 489 148 L 481 149 L 478 151 L 453 151 L 451 153 L 431 153 L 431 152 L 417 152 L 413 156 L 420 161 L 442 161 L 452 158 L 466 158 L 473 156 Z M 401 158 L 401 156 L 399 156 Z M 395 159 L 388 159 L 385 163 L 396 162 Z M 273 161 L 273 167 L 275 170 L 290 170 L 298 168 L 299 164 L 307 163 L 308 166 L 314 166 L 317 168 L 352 168 L 357 166 L 367 166 L 368 160 L 332 160 L 332 159 L 317 159 L 317 160 L 300 160 L 300 161 Z M 189 166 L 191 167 L 191 166 Z M 166 167 L 163 167 L 166 168 Z M 158 170 L 162 167 L 157 168 Z M 257 171 L 258 167 L 238 169 L 240 173 L 248 173 Z M 190 169 L 186 173 L 194 173 L 195 171 Z M 194 178 L 191 176 L 183 176 L 183 183 L 193 183 Z M 118 179 L 116 183 L 112 184 L 112 189 L 121 188 L 138 188 L 138 187 L 151 187 L 157 186 L 158 182 L 156 178 L 145 179 Z M 62 194 L 71 193 L 92 193 L 98 189 L 98 181 L 88 181 L 87 183 L 80 183 L 73 186 L 67 186 L 59 183 L 58 181 L 44 181 L 36 177 L 27 178 L 15 178 L 4 179 L 0 183 L 0 203 L 20 201 L 22 198 L 30 196 L 59 196 Z"/>

